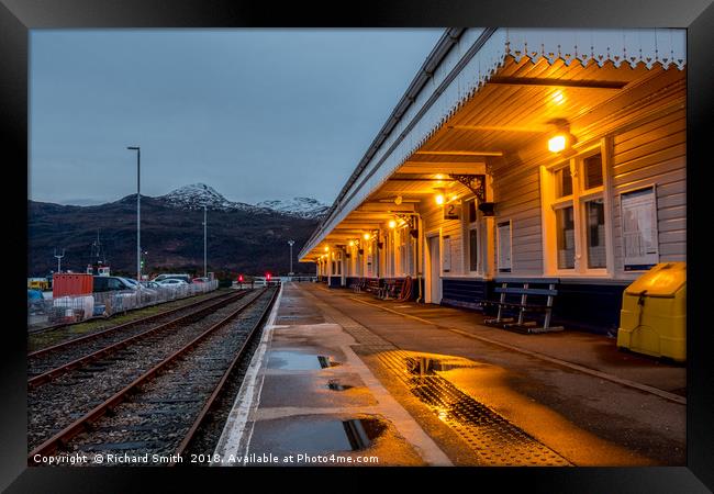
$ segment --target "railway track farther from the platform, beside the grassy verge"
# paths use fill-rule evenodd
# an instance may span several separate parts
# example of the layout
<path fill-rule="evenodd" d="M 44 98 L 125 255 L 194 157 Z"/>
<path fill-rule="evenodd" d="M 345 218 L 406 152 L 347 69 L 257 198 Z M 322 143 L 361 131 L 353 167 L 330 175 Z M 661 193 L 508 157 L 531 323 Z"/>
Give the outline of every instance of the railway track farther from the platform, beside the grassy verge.
<path fill-rule="evenodd" d="M 27 353 L 27 385 L 37 386 L 70 369 L 107 357 L 143 338 L 143 335 L 198 321 L 211 311 L 242 299 L 246 293 L 241 291 L 200 301 L 32 351 Z"/>

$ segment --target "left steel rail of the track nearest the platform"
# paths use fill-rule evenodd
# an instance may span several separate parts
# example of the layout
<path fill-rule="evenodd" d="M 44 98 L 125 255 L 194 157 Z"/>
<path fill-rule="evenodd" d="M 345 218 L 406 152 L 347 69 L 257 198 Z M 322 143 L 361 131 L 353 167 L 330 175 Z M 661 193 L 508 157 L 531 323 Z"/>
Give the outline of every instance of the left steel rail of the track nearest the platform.
<path fill-rule="evenodd" d="M 183 353 L 188 352 L 191 350 L 193 347 L 196 347 L 202 339 L 204 339 L 207 336 L 209 336 L 211 333 L 215 332 L 216 329 L 223 327 L 225 324 L 231 322 L 234 317 L 239 315 L 243 311 L 255 304 L 259 299 L 263 293 L 267 290 L 264 289 L 258 296 L 253 299 L 250 302 L 248 302 L 246 305 L 237 308 L 236 311 L 232 312 L 227 316 L 225 316 L 223 319 L 215 323 L 213 326 L 209 327 L 205 329 L 203 333 L 201 333 L 199 336 L 193 338 L 191 341 L 186 344 L 183 347 L 180 349 L 176 350 L 174 353 L 165 358 L 161 362 L 157 363 L 154 366 L 152 369 L 148 371 L 144 372 L 142 375 L 136 378 L 134 381 L 132 381 L 130 384 L 124 386 L 122 390 L 118 391 L 114 393 L 112 396 L 107 398 L 104 402 L 101 404 L 97 405 L 91 411 L 87 412 L 85 415 L 81 417 L 77 418 L 75 422 L 69 424 L 67 427 L 42 442 L 40 446 L 37 446 L 35 449 L 30 451 L 27 454 L 27 462 L 29 464 L 34 464 L 33 463 L 33 458 L 35 456 L 49 456 L 51 453 L 55 452 L 59 447 L 66 445 L 72 437 L 77 436 L 80 434 L 82 430 L 87 429 L 90 427 L 90 424 L 92 422 L 96 422 L 99 419 L 102 415 L 104 415 L 110 408 L 116 406 L 118 404 L 122 403 L 124 398 L 126 397 L 127 394 L 130 394 L 133 390 L 135 390 L 137 386 L 141 384 L 146 383 L 149 379 L 155 377 L 161 369 L 164 369 L 167 364 L 174 362 L 176 359 L 181 357 Z"/>

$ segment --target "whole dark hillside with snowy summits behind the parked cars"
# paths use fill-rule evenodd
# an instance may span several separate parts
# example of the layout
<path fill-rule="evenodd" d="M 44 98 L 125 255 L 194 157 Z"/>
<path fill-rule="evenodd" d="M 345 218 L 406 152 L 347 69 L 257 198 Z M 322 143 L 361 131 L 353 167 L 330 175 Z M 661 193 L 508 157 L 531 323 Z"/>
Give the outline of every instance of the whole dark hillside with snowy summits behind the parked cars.
<path fill-rule="evenodd" d="M 287 273 L 288 240 L 294 239 L 293 270 L 312 274 L 314 266 L 299 263 L 297 255 L 326 206 L 303 199 L 295 198 L 294 210 L 290 201 L 250 205 L 227 201 L 205 184 L 187 186 L 158 198 L 142 195 L 142 247 L 148 252 L 144 272 L 202 271 L 205 204 L 209 271 Z M 83 271 L 98 232 L 112 271 L 135 273 L 136 194 L 92 206 L 27 201 L 27 276 L 45 276 L 56 269 L 55 248 L 65 249 L 63 270 Z"/>

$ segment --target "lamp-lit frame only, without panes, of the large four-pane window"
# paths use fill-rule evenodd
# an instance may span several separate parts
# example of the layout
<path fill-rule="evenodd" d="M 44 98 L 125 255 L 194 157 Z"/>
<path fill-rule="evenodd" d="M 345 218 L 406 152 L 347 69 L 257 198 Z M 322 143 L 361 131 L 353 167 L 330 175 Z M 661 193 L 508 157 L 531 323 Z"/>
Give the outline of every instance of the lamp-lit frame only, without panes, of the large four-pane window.
<path fill-rule="evenodd" d="M 596 145 L 590 146 L 577 155 L 559 159 L 557 162 L 540 167 L 542 187 L 542 214 L 543 214 L 543 251 L 544 272 L 557 277 L 612 277 L 614 272 L 613 233 L 612 233 L 612 198 L 609 141 L 601 139 Z M 600 153 L 602 161 L 602 186 L 584 189 L 585 173 L 584 159 Z M 567 165 L 565 165 L 567 164 Z M 572 180 L 572 194 L 556 198 L 556 171 L 565 166 L 570 167 Z M 588 267 L 588 218 L 585 217 L 585 202 L 593 199 L 603 200 L 605 218 L 605 267 Z M 556 211 L 572 205 L 574 223 L 574 268 L 558 268 L 557 252 L 557 222 Z"/>

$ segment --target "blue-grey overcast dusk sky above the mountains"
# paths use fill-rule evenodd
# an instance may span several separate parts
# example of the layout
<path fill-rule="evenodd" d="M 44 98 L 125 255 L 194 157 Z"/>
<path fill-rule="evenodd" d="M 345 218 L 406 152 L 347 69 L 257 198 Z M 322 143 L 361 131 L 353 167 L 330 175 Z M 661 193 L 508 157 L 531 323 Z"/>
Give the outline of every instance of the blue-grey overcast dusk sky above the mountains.
<path fill-rule="evenodd" d="M 398 30 L 33 30 L 29 198 L 331 204 L 442 35 Z"/>

